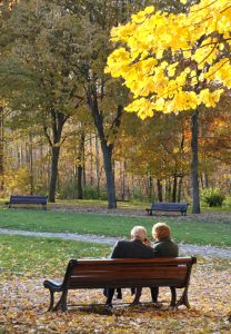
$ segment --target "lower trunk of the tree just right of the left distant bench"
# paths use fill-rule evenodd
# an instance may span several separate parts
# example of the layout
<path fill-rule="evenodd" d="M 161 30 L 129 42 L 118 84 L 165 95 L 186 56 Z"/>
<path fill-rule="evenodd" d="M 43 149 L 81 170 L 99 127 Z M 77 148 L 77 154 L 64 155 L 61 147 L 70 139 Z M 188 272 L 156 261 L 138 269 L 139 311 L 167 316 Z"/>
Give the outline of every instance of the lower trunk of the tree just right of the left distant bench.
<path fill-rule="evenodd" d="M 59 164 L 60 147 L 52 147 L 51 157 L 51 176 L 50 176 L 50 188 L 49 188 L 49 202 L 56 202 L 56 189 L 58 179 L 58 164 Z"/>

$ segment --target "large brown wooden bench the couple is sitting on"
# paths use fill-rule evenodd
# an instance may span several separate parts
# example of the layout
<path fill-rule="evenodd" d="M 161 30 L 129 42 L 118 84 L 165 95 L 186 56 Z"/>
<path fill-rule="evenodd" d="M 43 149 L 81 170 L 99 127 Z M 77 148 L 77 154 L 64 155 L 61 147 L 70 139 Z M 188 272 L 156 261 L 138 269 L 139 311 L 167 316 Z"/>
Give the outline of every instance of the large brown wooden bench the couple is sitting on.
<path fill-rule="evenodd" d="M 43 286 L 50 291 L 48 311 L 67 311 L 69 289 L 151 286 L 169 286 L 171 288 L 170 305 L 190 307 L 188 288 L 191 268 L 195 262 L 195 257 L 71 259 L 62 282 L 43 282 Z M 175 288 L 183 288 L 179 301 L 177 301 Z M 53 306 L 54 293 L 61 293 L 56 306 Z"/>

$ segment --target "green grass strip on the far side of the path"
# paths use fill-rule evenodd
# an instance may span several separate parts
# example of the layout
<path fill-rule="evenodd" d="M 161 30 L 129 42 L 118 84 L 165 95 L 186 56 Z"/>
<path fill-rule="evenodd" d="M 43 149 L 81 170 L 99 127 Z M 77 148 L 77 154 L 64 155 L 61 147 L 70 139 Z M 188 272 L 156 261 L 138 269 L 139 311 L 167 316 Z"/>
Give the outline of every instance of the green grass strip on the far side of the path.
<path fill-rule="evenodd" d="M 168 223 L 178 243 L 231 247 L 231 223 L 191 222 L 189 217 L 127 217 L 39 209 L 1 209 L 0 228 L 94 234 L 129 237 L 134 225 L 147 227 L 149 235 L 158 220 Z"/>

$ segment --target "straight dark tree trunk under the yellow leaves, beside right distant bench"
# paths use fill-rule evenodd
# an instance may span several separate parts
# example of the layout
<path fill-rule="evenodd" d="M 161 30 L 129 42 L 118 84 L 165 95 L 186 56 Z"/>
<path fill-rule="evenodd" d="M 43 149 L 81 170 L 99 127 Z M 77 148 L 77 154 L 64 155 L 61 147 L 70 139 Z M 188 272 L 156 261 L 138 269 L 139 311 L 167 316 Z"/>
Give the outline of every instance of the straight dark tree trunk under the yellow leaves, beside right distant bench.
<path fill-rule="evenodd" d="M 192 161 L 191 161 L 191 178 L 192 178 L 192 214 L 200 214 L 200 193 L 199 193 L 199 158 L 198 158 L 198 116 L 199 110 L 192 114 L 191 118 L 191 131 L 192 131 Z"/>

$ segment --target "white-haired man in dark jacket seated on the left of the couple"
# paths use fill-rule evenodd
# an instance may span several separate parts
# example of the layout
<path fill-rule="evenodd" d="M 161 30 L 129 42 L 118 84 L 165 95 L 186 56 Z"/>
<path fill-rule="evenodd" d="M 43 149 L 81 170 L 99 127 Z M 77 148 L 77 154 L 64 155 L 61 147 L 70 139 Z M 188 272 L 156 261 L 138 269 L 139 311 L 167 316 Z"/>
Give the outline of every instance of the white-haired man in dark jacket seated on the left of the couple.
<path fill-rule="evenodd" d="M 131 230 L 131 240 L 120 240 L 116 244 L 111 258 L 152 258 L 153 248 L 145 245 L 147 230 L 143 226 L 134 226 Z M 110 306 L 114 288 L 104 291 L 107 304 Z M 118 289 L 118 297 L 121 298 L 121 289 Z"/>

